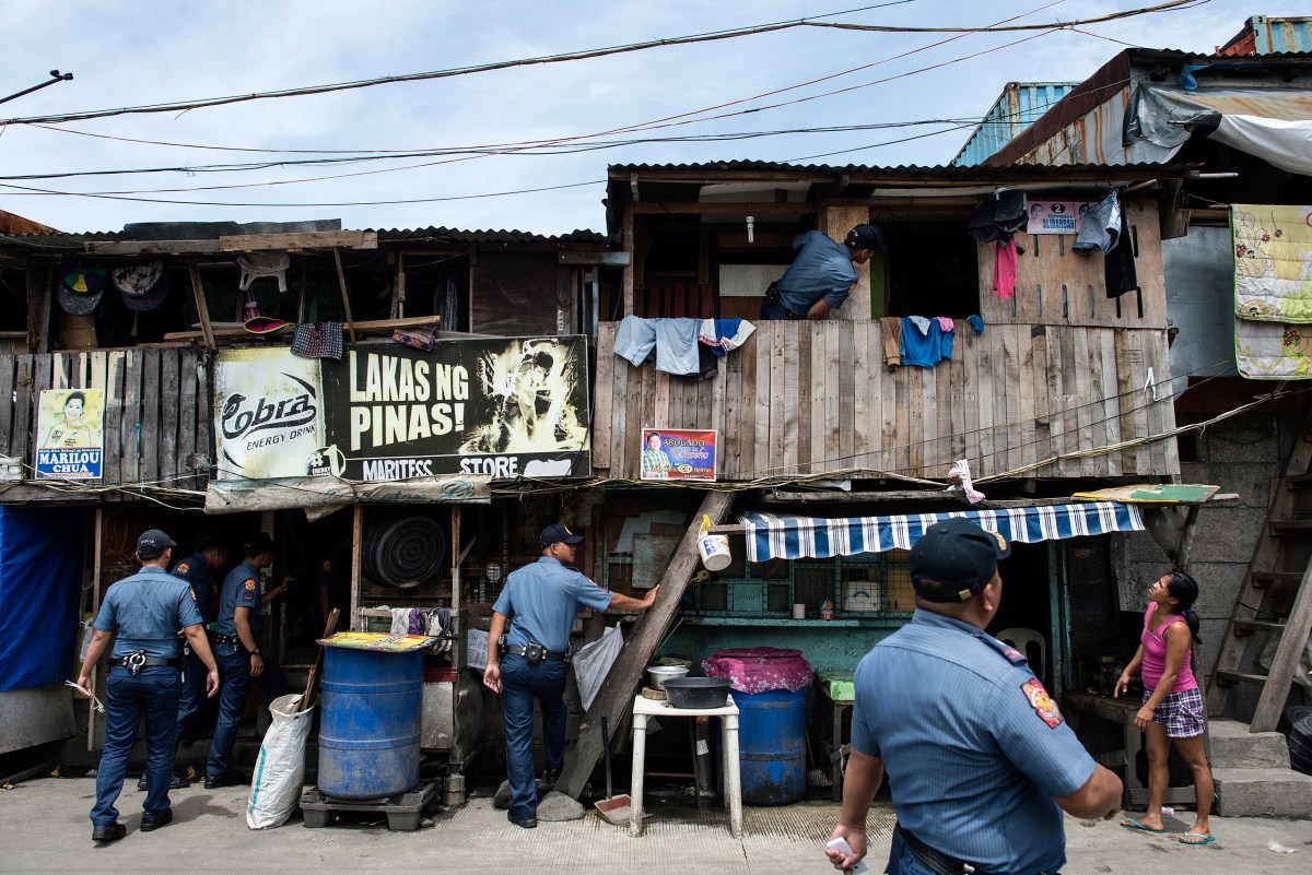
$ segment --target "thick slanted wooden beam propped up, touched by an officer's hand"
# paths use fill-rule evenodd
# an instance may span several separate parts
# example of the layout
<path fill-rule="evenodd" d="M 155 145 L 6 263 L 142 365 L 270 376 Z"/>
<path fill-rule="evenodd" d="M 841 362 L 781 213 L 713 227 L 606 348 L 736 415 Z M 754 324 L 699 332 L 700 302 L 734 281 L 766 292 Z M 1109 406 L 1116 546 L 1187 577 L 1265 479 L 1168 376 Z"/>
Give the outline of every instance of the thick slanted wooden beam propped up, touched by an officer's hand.
<path fill-rule="evenodd" d="M 702 499 L 701 508 L 694 515 L 674 558 L 661 576 L 661 591 L 656 604 L 643 614 L 630 633 L 614 665 L 610 667 L 606 680 L 602 681 L 597 698 L 579 724 L 579 740 L 575 743 L 573 751 L 565 754 L 565 766 L 556 782 L 556 790 L 560 792 L 577 799 L 593 766 L 597 765 L 604 747 L 600 717 L 605 715 L 611 720 L 611 724 L 618 724 L 632 711 L 634 693 L 642 682 L 643 672 L 647 671 L 652 655 L 670 627 L 687 579 L 699 565 L 697 538 L 701 532 L 702 515 L 710 516 L 711 523 L 719 523 L 732 503 L 733 493 L 707 493 L 706 498 Z"/>

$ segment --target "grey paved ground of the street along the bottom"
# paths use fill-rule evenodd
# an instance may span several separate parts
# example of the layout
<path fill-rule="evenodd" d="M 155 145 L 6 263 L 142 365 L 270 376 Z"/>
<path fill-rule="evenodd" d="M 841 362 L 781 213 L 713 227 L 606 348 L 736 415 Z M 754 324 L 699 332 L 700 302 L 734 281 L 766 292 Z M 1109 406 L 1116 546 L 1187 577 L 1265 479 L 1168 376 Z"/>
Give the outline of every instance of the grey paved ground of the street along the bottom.
<path fill-rule="evenodd" d="M 824 838 L 837 815 L 832 803 L 747 808 L 745 836 L 728 834 L 722 811 L 697 811 L 677 802 L 656 803 L 642 838 L 590 813 L 580 821 L 523 830 L 505 821 L 487 796 L 471 796 L 438 813 L 415 833 L 391 833 L 363 823 L 306 829 L 299 816 L 264 832 L 245 828 L 247 790 L 206 791 L 193 785 L 173 791 L 174 823 L 138 832 L 142 795 L 130 781 L 119 802 L 127 837 L 114 845 L 91 841 L 87 812 L 96 792 L 92 778 L 43 778 L 0 792 L 0 872 L 359 872 L 495 871 L 535 875 L 577 872 L 824 872 Z M 1187 815 L 1186 815 L 1187 816 Z M 1191 821 L 1190 821 L 1191 823 Z M 891 811 L 871 816 L 880 863 L 887 855 Z M 1189 825 L 1168 819 L 1183 832 Z M 1312 821 L 1214 819 L 1218 841 L 1185 847 L 1156 836 L 1130 833 L 1110 823 L 1067 820 L 1067 875 L 1153 872 L 1169 875 L 1270 874 L 1312 871 Z M 1282 854 L 1269 842 L 1294 849 Z M 832 871 L 832 870 L 830 870 Z M 882 871 L 876 866 L 875 871 Z"/>

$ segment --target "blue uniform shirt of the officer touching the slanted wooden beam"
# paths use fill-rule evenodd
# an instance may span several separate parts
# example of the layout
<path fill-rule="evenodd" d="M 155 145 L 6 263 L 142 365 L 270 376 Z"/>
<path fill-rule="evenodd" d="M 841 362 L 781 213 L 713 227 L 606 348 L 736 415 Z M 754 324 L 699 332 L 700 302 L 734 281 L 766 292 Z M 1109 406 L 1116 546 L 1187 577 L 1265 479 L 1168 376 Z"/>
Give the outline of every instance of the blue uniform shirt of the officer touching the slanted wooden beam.
<path fill-rule="evenodd" d="M 547 650 L 564 652 L 569 648 L 569 631 L 579 608 L 605 610 L 610 606 L 610 595 L 581 571 L 544 555 L 506 576 L 492 610 L 510 617 L 506 643 L 512 647 L 537 642 Z"/>

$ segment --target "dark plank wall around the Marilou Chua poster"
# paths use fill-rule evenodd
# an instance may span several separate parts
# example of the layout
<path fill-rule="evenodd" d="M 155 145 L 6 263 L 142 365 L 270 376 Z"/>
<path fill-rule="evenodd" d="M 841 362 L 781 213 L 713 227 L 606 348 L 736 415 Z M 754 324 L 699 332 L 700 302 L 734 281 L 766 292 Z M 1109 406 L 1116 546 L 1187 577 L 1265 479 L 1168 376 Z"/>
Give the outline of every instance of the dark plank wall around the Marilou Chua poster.
<path fill-rule="evenodd" d="M 189 475 L 188 468 L 188 456 L 214 455 L 209 373 L 199 364 L 190 347 L 51 352 L 0 360 L 0 453 L 18 456 L 25 477 L 30 475 L 38 393 L 104 389 L 100 485 L 203 489 L 205 479 Z M 106 498 L 122 496 L 110 493 Z"/>

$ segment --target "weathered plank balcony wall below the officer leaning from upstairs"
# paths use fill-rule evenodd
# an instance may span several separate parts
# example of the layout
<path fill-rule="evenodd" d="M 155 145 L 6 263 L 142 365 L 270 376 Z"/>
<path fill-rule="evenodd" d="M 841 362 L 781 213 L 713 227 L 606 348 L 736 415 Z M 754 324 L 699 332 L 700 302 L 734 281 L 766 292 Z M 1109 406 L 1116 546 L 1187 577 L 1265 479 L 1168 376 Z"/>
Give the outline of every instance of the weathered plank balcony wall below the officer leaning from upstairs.
<path fill-rule="evenodd" d="M 762 322 L 715 379 L 698 380 L 657 372 L 655 356 L 630 365 L 614 355 L 614 324 L 604 324 L 598 475 L 638 477 L 643 427 L 718 430 L 727 481 L 845 469 L 941 479 L 962 457 L 976 477 L 1179 473 L 1174 440 L 1040 465 L 1174 428 L 1162 329 L 991 325 L 976 337 L 959 322 L 951 362 L 933 369 L 886 367 L 880 330 Z M 1156 401 L 1144 388 L 1149 368 Z"/>

